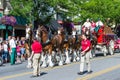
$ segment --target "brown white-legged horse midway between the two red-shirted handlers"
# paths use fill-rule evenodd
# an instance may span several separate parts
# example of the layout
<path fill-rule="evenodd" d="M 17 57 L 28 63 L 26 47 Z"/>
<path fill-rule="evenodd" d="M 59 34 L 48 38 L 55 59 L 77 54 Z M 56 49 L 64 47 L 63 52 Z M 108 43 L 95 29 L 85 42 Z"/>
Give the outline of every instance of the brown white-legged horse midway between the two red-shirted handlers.
<path fill-rule="evenodd" d="M 63 54 L 65 51 L 66 54 L 66 63 L 70 63 L 70 60 L 68 59 L 68 42 L 65 41 L 65 31 L 63 28 L 59 28 L 58 29 L 58 34 L 56 34 L 52 40 L 51 43 L 53 45 L 54 51 L 56 51 L 58 53 L 58 55 L 60 56 L 60 61 L 59 61 L 59 65 L 63 65 Z"/>

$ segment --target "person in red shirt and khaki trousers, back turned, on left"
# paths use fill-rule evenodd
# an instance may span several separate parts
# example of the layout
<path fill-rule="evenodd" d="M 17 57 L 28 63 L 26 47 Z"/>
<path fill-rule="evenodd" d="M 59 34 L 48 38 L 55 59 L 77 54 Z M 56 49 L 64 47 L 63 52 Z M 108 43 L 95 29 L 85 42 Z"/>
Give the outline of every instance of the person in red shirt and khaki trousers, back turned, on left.
<path fill-rule="evenodd" d="M 32 77 L 37 77 L 40 76 L 40 56 L 42 52 L 42 45 L 36 38 L 34 38 L 31 48 L 32 48 L 32 54 L 30 56 L 30 59 L 33 60 Z"/>

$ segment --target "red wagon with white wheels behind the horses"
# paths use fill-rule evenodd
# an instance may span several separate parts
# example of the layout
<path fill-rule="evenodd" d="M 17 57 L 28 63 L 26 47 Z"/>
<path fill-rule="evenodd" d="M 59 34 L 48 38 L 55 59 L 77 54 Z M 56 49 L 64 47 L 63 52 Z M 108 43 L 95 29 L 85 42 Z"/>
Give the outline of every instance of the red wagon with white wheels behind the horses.
<path fill-rule="evenodd" d="M 97 45 L 95 47 L 95 55 L 103 54 L 114 54 L 114 39 L 115 34 L 112 32 L 110 27 L 102 26 L 97 32 Z"/>

